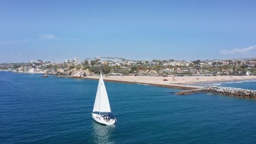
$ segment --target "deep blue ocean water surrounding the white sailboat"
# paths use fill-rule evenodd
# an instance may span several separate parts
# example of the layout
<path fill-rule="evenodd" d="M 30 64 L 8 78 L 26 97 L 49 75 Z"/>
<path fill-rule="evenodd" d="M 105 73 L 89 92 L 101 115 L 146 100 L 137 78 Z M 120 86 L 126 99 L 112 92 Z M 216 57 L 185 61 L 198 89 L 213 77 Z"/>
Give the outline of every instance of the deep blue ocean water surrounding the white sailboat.
<path fill-rule="evenodd" d="M 256 143 L 256 100 L 106 82 L 118 122 L 104 126 L 97 82 L 0 72 L 1 143 Z"/>

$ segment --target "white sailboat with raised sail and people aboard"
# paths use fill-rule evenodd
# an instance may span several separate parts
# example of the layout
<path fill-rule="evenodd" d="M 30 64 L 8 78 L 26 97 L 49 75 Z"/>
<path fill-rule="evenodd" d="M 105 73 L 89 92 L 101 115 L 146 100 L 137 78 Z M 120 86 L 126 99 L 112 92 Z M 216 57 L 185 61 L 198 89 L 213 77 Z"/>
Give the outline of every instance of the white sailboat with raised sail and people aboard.
<path fill-rule="evenodd" d="M 98 89 L 94 102 L 94 109 L 92 110 L 92 118 L 101 124 L 114 124 L 117 119 L 114 118 L 108 100 L 107 90 L 103 81 L 102 74 L 98 81 Z"/>

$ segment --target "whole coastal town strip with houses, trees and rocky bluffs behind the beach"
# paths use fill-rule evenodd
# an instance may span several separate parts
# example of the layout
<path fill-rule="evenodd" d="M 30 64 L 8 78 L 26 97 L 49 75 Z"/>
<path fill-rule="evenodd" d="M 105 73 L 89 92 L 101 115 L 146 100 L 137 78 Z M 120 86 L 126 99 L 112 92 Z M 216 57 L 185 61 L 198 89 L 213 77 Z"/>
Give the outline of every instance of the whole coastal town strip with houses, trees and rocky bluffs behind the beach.
<path fill-rule="evenodd" d="M 256 58 L 176 61 L 174 59 L 152 61 L 127 60 L 119 57 L 66 59 L 65 62 L 50 62 L 38 59 L 28 63 L 2 63 L 0 70 L 17 73 L 43 73 L 72 75 L 80 71 L 82 76 L 100 73 L 107 75 L 132 76 L 222 76 L 222 75 L 256 75 Z M 82 72 L 81 72 L 82 71 Z M 73 74 L 74 75 L 74 74 Z"/>

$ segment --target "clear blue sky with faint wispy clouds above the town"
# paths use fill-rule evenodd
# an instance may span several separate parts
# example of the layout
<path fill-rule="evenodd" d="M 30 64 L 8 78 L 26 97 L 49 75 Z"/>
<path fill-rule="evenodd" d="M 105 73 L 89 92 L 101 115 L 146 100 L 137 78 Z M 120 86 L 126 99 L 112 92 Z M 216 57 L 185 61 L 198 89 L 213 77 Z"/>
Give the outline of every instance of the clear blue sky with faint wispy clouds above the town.
<path fill-rule="evenodd" d="M 0 1 L 0 63 L 256 57 L 256 1 Z"/>

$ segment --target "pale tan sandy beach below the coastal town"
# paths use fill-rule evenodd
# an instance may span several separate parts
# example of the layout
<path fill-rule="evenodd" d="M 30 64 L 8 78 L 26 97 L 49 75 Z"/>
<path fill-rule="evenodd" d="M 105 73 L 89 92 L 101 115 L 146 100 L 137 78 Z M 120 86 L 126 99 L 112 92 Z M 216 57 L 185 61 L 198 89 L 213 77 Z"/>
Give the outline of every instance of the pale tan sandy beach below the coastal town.
<path fill-rule="evenodd" d="M 98 79 L 98 76 L 86 76 L 89 79 Z M 256 76 L 179 76 L 179 77 L 160 77 L 160 76 L 103 76 L 104 80 L 123 81 L 131 83 L 148 83 L 153 85 L 186 85 L 206 82 L 222 81 L 245 81 L 256 80 Z M 164 81 L 166 79 L 167 81 Z"/>

